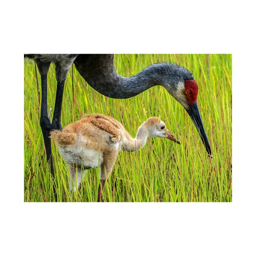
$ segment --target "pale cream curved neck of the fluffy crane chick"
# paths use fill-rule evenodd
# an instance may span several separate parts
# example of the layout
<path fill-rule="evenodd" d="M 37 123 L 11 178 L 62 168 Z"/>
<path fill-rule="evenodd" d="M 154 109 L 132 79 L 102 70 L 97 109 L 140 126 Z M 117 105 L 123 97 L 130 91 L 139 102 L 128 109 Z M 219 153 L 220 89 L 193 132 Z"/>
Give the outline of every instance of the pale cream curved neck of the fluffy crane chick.
<path fill-rule="evenodd" d="M 133 139 L 130 137 L 130 135 L 127 133 L 126 136 L 123 138 L 123 143 L 121 145 L 121 149 L 125 151 L 137 151 L 143 148 L 147 142 L 147 139 L 149 137 L 148 130 L 144 127 L 142 124 L 137 132 L 136 137 Z"/>

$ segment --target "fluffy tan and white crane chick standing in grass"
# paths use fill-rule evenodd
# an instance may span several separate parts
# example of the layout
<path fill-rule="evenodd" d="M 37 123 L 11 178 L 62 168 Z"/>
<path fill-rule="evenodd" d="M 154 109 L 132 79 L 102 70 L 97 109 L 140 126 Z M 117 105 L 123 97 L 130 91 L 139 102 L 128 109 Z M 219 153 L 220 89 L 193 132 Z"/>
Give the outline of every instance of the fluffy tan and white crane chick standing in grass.
<path fill-rule="evenodd" d="M 100 165 L 98 202 L 101 201 L 101 187 L 104 187 L 118 153 L 121 150 L 136 151 L 143 148 L 148 137 L 167 138 L 180 144 L 158 117 L 147 119 L 139 127 L 135 139 L 119 121 L 101 114 L 86 115 L 62 130 L 53 130 L 50 135 L 67 162 L 71 191 L 78 189 L 85 174 L 83 170 Z"/>

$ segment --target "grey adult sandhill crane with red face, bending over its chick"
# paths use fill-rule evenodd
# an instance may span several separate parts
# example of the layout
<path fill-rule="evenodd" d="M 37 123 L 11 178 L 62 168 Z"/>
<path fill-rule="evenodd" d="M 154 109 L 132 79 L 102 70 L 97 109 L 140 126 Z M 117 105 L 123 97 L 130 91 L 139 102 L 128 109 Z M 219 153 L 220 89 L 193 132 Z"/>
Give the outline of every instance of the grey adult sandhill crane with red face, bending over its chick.
<path fill-rule="evenodd" d="M 152 64 L 137 75 L 122 77 L 114 66 L 114 54 L 24 54 L 34 59 L 41 75 L 40 126 L 46 156 L 54 177 L 50 131 L 61 130 L 61 104 L 67 73 L 74 62 L 80 75 L 99 93 L 110 98 L 130 98 L 150 87 L 162 85 L 186 109 L 191 117 L 206 151 L 211 155 L 210 144 L 197 106 L 197 83 L 189 70 L 173 63 Z M 55 64 L 57 91 L 52 122 L 47 113 L 47 74 L 50 63 Z"/>

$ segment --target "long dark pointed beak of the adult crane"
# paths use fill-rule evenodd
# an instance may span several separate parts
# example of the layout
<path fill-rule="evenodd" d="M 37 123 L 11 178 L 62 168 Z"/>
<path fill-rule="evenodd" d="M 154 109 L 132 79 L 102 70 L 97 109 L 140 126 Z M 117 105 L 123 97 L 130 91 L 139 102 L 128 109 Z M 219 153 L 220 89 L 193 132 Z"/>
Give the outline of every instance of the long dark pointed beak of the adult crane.
<path fill-rule="evenodd" d="M 208 152 L 209 156 L 211 158 L 213 158 L 212 151 L 210 149 L 210 143 L 208 141 L 206 132 L 204 130 L 204 125 L 202 122 L 200 111 L 197 106 L 197 102 L 195 102 L 193 104 L 189 104 L 189 108 L 186 110 L 187 110 L 187 113 L 189 113 L 189 116 L 191 117 L 193 123 L 195 124 L 195 127 L 197 128 L 197 130 L 199 132 L 199 135 L 200 135 L 200 137 L 204 143 L 204 146 L 206 148 L 206 151 Z"/>

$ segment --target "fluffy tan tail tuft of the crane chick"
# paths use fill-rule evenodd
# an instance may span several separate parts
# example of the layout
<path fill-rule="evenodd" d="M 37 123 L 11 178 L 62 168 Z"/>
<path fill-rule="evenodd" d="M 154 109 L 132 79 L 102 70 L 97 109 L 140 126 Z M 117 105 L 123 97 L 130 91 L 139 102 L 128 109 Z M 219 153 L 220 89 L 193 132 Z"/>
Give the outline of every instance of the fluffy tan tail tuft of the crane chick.
<path fill-rule="evenodd" d="M 50 132 L 50 138 L 59 145 L 72 145 L 77 140 L 76 133 L 69 130 L 53 130 Z"/>

